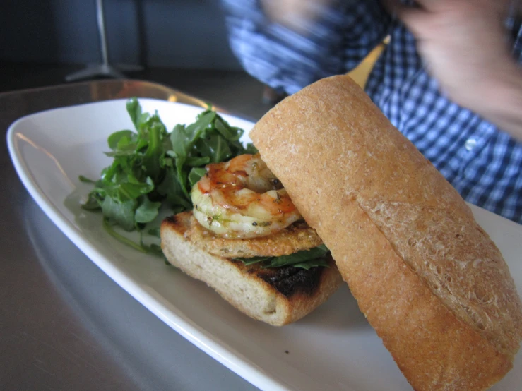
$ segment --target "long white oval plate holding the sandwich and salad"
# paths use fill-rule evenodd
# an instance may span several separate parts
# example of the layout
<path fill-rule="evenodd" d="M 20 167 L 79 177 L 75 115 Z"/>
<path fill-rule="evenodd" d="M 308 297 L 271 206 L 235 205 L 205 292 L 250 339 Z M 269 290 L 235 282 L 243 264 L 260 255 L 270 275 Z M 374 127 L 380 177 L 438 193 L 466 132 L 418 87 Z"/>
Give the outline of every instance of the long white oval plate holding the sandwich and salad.
<path fill-rule="evenodd" d="M 8 130 L 8 148 L 29 193 L 47 216 L 117 284 L 197 347 L 263 390 L 410 390 L 348 288 L 285 327 L 242 315 L 205 284 L 107 236 L 99 214 L 79 206 L 90 186 L 78 175 L 97 177 L 110 162 L 109 133 L 133 128 L 125 100 L 54 109 L 23 117 Z M 172 128 L 191 123 L 201 108 L 140 100 L 158 110 Z M 225 116 L 247 131 L 253 124 Z M 71 196 L 72 194 L 72 196 Z M 522 226 L 473 207 L 477 221 L 497 243 L 522 292 Z M 286 353 L 288 351 L 288 353 Z M 522 353 L 494 390 L 522 384 Z"/>

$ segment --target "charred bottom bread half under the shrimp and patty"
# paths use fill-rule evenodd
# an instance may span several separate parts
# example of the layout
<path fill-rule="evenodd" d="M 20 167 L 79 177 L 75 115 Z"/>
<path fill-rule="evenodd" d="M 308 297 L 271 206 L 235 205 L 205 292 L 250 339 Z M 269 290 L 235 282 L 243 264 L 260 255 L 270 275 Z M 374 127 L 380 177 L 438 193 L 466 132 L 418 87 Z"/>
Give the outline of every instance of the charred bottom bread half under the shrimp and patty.
<path fill-rule="evenodd" d="M 198 224 L 191 215 L 182 212 L 162 222 L 165 257 L 251 318 L 274 326 L 295 322 L 324 303 L 342 283 L 331 258 L 329 267 L 263 269 L 259 264 L 246 266 L 240 260 L 212 255 L 186 237 L 191 224 Z"/>

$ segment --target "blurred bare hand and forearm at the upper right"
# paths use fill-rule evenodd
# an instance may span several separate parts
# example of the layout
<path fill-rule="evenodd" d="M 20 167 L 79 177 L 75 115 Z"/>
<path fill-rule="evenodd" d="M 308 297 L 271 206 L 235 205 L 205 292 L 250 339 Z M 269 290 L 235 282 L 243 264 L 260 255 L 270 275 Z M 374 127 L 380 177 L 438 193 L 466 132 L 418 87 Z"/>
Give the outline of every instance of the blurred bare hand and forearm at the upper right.
<path fill-rule="evenodd" d="M 522 71 L 503 25 L 509 0 L 384 4 L 413 32 L 429 73 L 451 100 L 522 139 Z"/>

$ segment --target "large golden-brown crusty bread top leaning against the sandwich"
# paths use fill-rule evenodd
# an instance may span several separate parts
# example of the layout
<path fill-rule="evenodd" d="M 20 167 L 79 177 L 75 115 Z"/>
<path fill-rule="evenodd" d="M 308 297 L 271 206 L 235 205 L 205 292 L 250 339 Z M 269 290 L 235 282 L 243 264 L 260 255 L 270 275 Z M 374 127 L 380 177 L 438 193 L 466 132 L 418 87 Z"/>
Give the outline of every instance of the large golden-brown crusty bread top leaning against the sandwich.
<path fill-rule="evenodd" d="M 485 390 L 509 371 L 522 311 L 502 255 L 348 76 L 283 100 L 250 137 L 415 390 Z"/>

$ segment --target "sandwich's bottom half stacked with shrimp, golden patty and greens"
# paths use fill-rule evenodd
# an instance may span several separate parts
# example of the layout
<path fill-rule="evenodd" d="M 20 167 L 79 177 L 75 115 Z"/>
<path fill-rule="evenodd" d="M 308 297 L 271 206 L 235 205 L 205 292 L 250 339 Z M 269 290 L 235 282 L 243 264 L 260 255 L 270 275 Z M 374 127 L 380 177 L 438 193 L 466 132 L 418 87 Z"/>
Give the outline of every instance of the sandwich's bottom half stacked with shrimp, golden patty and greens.
<path fill-rule="evenodd" d="M 287 325 L 342 284 L 330 252 L 259 155 L 208 164 L 191 200 L 193 210 L 162 222 L 165 258 L 242 313 Z"/>

